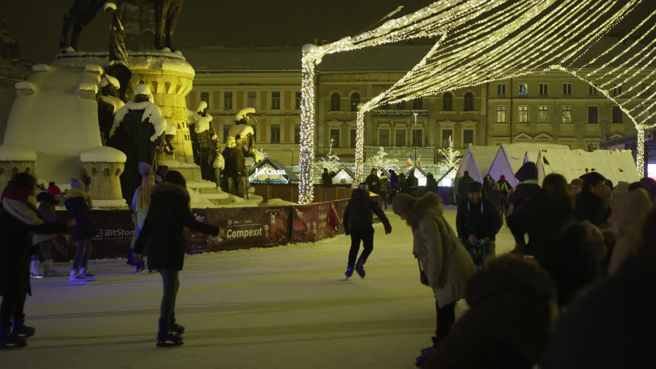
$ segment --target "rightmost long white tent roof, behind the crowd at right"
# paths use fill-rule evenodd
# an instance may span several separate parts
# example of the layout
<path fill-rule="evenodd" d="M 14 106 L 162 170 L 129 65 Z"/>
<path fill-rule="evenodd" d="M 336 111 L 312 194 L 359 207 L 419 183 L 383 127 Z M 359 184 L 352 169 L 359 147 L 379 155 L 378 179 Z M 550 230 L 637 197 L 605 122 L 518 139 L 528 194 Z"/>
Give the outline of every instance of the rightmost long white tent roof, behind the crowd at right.
<path fill-rule="evenodd" d="M 600 173 L 615 185 L 620 181 L 640 181 L 630 150 L 544 150 L 539 154 L 537 170 L 540 182 L 551 173 L 563 175 L 571 182 L 591 171 Z"/>

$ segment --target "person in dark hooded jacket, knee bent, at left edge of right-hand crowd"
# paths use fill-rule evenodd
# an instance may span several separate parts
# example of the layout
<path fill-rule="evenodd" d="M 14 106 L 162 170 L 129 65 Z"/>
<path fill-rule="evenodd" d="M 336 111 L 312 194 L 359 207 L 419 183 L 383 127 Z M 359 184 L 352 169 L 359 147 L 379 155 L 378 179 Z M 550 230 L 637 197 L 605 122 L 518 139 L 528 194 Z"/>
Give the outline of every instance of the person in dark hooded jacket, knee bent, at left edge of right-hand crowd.
<path fill-rule="evenodd" d="M 508 217 L 506 223 L 513 238 L 515 239 L 515 253 L 523 255 L 526 248 L 525 234 L 528 232 L 526 215 L 531 211 L 533 200 L 540 192 L 537 182 L 537 165 L 526 162 L 520 170 L 515 173 L 520 184 L 508 196 Z"/>

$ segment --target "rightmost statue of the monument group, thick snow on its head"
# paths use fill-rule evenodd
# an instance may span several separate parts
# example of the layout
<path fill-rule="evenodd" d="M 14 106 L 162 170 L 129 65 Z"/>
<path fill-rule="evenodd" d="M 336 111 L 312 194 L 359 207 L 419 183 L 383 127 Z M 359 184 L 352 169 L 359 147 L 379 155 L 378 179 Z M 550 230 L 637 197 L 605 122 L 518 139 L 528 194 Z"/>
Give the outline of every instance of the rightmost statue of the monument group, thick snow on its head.
<path fill-rule="evenodd" d="M 228 131 L 226 148 L 223 150 L 224 183 L 228 192 L 239 197 L 245 195 L 247 186 L 246 157 L 253 158 L 256 163 L 262 160 L 255 150 L 255 131 L 248 124 L 251 119 L 249 114 L 255 114 L 255 108 L 245 108 L 237 113 L 235 124 Z"/>

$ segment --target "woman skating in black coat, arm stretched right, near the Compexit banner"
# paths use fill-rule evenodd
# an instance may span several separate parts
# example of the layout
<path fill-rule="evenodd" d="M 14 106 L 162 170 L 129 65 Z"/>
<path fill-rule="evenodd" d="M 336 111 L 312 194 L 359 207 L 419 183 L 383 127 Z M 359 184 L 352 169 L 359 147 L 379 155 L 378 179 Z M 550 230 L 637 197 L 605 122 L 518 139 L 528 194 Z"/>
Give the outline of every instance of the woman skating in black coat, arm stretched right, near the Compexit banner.
<path fill-rule="evenodd" d="M 186 181 L 178 171 L 169 171 L 164 182 L 155 186 L 144 227 L 134 244 L 134 253 L 148 250 L 150 267 L 162 276 L 164 294 L 159 315 L 157 346 L 182 345 L 184 327 L 175 322 L 175 301 L 184 264 L 184 227 L 195 232 L 217 235 L 218 227 L 196 221 L 189 207 Z"/>

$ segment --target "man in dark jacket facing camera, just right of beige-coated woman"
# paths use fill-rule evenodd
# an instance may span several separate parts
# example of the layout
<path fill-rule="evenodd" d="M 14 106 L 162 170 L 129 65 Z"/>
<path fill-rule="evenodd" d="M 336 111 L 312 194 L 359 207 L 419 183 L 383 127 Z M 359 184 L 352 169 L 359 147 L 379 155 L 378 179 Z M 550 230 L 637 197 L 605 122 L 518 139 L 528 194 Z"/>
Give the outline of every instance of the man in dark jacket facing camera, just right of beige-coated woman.
<path fill-rule="evenodd" d="M 472 182 L 467 197 L 458 205 L 456 228 L 463 245 L 483 241 L 486 257 L 495 257 L 495 240 L 502 225 L 501 213 L 491 200 L 483 197 L 483 186 Z"/>

